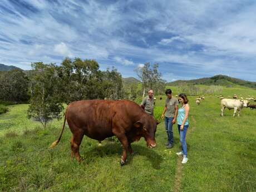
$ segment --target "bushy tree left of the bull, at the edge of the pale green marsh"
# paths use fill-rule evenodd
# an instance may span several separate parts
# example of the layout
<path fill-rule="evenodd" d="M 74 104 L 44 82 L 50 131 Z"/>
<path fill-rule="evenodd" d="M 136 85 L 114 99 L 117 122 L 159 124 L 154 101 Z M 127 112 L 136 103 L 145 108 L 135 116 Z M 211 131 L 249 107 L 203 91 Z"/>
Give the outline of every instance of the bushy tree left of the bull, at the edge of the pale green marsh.
<path fill-rule="evenodd" d="M 31 100 L 28 118 L 34 118 L 46 127 L 47 122 L 60 119 L 63 110 L 60 77 L 54 64 L 32 63 Z"/>

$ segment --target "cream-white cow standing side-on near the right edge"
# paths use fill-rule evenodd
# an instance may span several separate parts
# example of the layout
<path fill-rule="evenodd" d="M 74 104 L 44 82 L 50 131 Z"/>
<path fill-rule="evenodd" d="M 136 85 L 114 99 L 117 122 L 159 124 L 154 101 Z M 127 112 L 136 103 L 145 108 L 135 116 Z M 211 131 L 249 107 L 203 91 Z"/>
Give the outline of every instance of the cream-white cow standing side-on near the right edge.
<path fill-rule="evenodd" d="M 240 111 L 243 107 L 248 107 L 249 101 L 248 100 L 234 100 L 234 99 L 221 99 L 220 106 L 221 106 L 221 116 L 223 116 L 223 112 L 225 108 L 234 109 L 234 114 L 238 111 L 238 116 L 240 116 Z"/>

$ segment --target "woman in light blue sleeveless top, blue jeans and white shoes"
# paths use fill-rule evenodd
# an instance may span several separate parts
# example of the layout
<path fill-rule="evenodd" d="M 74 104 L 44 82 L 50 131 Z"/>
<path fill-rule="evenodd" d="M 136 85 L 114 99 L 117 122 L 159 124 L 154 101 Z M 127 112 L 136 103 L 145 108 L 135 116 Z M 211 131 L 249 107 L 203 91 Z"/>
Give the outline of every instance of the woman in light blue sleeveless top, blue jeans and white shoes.
<path fill-rule="evenodd" d="M 182 151 L 177 152 L 177 155 L 183 155 L 182 164 L 185 164 L 188 162 L 188 154 L 187 154 L 187 148 L 186 148 L 186 131 L 189 128 L 189 100 L 186 97 L 184 93 L 181 93 L 179 95 L 179 102 L 182 105 L 180 109 L 178 110 L 178 130 L 180 134 L 180 142 L 182 146 Z"/>

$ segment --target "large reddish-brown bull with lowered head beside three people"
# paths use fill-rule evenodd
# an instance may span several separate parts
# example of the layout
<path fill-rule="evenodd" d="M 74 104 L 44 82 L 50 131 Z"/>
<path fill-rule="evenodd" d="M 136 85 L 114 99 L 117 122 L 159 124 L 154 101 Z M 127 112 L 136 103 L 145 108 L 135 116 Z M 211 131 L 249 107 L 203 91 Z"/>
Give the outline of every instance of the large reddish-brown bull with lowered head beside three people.
<path fill-rule="evenodd" d="M 146 114 L 135 102 L 120 100 L 82 100 L 68 105 L 62 132 L 54 147 L 60 142 L 65 122 L 73 134 L 71 139 L 71 156 L 81 161 L 79 146 L 83 135 L 102 141 L 107 137 L 116 136 L 122 144 L 121 165 L 127 158 L 127 151 L 132 154 L 131 143 L 144 137 L 148 147 L 155 147 L 157 122 L 154 117 Z"/>

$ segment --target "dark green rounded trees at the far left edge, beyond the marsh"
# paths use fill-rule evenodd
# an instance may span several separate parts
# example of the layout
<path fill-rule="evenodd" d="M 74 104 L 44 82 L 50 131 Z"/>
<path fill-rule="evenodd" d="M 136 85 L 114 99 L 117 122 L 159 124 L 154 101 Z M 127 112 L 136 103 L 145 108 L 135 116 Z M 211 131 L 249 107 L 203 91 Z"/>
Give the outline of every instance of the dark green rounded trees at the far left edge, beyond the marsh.
<path fill-rule="evenodd" d="M 0 73 L 0 100 L 8 102 L 27 102 L 28 78 L 22 70 Z"/>

